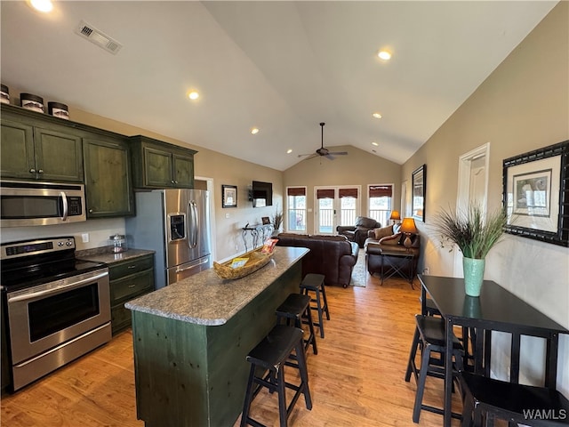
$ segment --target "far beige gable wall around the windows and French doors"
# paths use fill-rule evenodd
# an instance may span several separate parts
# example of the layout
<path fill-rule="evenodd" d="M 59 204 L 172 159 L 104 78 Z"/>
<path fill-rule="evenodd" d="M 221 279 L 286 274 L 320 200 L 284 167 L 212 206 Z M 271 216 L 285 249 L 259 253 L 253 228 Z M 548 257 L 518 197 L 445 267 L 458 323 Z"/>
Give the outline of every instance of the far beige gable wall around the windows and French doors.
<path fill-rule="evenodd" d="M 393 184 L 395 190 L 393 195 L 394 208 L 399 208 L 401 165 L 352 146 L 328 148 L 331 151 L 347 151 L 348 156 L 336 156 L 334 160 L 314 157 L 303 160 L 284 171 L 284 191 L 286 187 L 307 186 L 307 207 L 313 210 L 312 213 L 308 214 L 307 218 L 307 231 L 309 233 L 316 234 L 315 186 L 359 185 L 363 195 L 359 200 L 361 214 L 365 216 L 368 211 L 367 197 L 365 195 L 367 185 Z"/>

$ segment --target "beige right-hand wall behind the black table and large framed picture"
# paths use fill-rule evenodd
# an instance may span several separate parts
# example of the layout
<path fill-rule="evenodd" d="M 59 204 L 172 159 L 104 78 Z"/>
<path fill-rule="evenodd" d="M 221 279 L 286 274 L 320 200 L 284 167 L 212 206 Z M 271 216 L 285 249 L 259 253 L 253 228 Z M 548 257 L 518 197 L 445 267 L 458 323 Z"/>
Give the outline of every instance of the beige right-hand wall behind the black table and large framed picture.
<path fill-rule="evenodd" d="M 424 265 L 430 274 L 453 275 L 453 258 L 429 238 L 429 222 L 439 207 L 456 205 L 458 159 L 490 142 L 489 208 L 501 206 L 502 160 L 569 139 L 569 3 L 560 2 L 460 109 L 403 165 L 403 178 L 426 164 Z M 528 238 L 507 236 L 487 260 L 485 278 L 505 286 L 531 305 L 569 327 L 569 249 Z M 496 375 L 506 375 L 508 342 L 496 338 Z M 540 375 L 535 364 L 542 347 L 527 342 L 523 370 L 528 381 Z M 560 389 L 569 396 L 569 340 L 559 352 Z M 501 359 L 503 358 L 503 359 Z"/>

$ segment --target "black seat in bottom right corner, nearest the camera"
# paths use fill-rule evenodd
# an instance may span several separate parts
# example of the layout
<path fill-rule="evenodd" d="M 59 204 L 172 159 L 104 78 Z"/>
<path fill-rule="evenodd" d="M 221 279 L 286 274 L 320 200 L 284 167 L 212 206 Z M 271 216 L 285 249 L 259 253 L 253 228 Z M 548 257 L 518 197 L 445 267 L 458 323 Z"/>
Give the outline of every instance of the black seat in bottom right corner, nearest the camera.
<path fill-rule="evenodd" d="M 493 427 L 495 418 L 536 427 L 569 425 L 569 400 L 555 389 L 506 383 L 469 372 L 461 372 L 461 385 L 462 427 Z"/>

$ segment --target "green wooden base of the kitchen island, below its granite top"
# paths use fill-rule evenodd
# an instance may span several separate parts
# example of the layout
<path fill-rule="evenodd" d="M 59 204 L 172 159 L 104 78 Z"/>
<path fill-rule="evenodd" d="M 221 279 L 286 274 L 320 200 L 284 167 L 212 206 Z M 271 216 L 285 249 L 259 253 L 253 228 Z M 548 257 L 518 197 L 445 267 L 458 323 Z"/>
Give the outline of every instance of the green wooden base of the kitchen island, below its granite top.
<path fill-rule="evenodd" d="M 262 279 L 262 269 L 252 279 L 256 274 Z M 132 310 L 137 415 L 145 426 L 233 425 L 243 408 L 250 367 L 245 357 L 276 324 L 276 307 L 298 293 L 300 283 L 301 261 L 222 325 Z"/>

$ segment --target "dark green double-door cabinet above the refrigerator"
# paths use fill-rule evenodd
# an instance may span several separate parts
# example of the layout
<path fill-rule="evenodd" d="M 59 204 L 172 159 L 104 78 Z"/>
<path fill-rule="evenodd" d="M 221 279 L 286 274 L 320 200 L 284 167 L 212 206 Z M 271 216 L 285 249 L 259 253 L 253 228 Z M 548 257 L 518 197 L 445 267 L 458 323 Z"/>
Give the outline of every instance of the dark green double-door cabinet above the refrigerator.
<path fill-rule="evenodd" d="M 134 188 L 194 188 L 194 154 L 197 151 L 142 135 L 130 139 Z"/>

